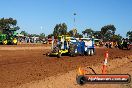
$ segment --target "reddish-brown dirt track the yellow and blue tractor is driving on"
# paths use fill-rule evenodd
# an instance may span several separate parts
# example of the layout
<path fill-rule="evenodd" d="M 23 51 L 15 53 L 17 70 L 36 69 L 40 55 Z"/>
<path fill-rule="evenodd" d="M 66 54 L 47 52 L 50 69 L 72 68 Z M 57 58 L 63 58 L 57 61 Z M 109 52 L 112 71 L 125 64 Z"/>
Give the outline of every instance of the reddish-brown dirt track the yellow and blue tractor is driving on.
<path fill-rule="evenodd" d="M 47 80 L 49 77 L 68 74 L 78 69 L 80 66 L 94 66 L 102 63 L 106 51 L 109 51 L 109 60 L 121 59 L 123 57 L 127 58 L 132 55 L 132 50 L 97 48 L 94 56 L 63 56 L 62 58 L 57 58 L 45 56 L 45 53 L 49 51 L 49 45 L 0 46 L 0 88 L 18 88 L 19 86 L 22 88 L 33 88 L 21 85 Z M 75 81 L 75 75 L 72 76 L 73 75 L 69 74 L 71 80 L 74 79 Z M 61 80 L 58 81 L 61 82 Z M 63 84 L 65 84 L 66 81 L 62 81 L 64 82 Z M 48 84 L 48 82 L 44 83 Z M 43 85 L 45 85 L 44 83 Z M 49 88 L 58 87 L 49 85 Z M 65 88 L 73 88 L 73 86 L 65 86 Z"/>

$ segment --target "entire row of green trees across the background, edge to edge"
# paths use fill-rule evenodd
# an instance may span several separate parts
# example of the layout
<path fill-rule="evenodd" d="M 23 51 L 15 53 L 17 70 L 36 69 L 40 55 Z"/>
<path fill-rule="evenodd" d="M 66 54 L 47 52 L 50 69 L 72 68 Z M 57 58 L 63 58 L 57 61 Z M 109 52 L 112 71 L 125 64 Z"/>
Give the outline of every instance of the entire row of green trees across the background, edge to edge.
<path fill-rule="evenodd" d="M 4 31 L 8 31 L 10 29 L 19 30 L 20 27 L 17 26 L 17 20 L 13 18 L 1 18 L 0 19 L 0 33 L 4 33 Z M 66 23 L 56 24 L 53 30 L 53 33 L 49 34 L 47 37 L 54 36 L 57 38 L 59 35 L 69 35 L 73 37 L 82 38 L 83 36 L 91 38 L 94 36 L 97 39 L 102 39 L 103 41 L 119 41 L 122 39 L 120 34 L 115 34 L 116 27 L 112 24 L 103 26 L 99 31 L 95 31 L 91 28 L 87 28 L 82 33 L 78 33 L 78 29 L 74 28 L 70 31 L 67 30 L 68 27 Z M 21 34 L 24 36 L 36 36 L 44 38 L 46 37 L 44 33 L 41 34 L 29 34 L 26 31 L 21 31 Z M 126 36 L 132 40 L 132 31 L 128 31 Z"/>

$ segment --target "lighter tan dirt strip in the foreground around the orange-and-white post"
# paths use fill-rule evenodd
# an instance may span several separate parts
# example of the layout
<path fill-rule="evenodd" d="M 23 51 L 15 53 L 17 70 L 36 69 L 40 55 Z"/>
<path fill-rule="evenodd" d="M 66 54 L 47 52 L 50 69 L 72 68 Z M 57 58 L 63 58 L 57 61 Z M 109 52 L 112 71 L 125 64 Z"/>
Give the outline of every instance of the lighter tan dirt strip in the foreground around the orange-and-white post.
<path fill-rule="evenodd" d="M 113 59 L 108 62 L 108 74 L 130 74 L 132 75 L 132 56 Z M 97 74 L 101 73 L 102 64 L 91 66 Z M 99 69 L 100 68 L 100 69 Z M 127 68 L 127 69 L 126 69 Z M 90 71 L 90 69 L 88 69 Z M 77 70 L 65 74 L 51 76 L 45 80 L 33 81 L 15 88 L 132 88 L 132 82 L 128 84 L 85 84 L 76 82 Z"/>

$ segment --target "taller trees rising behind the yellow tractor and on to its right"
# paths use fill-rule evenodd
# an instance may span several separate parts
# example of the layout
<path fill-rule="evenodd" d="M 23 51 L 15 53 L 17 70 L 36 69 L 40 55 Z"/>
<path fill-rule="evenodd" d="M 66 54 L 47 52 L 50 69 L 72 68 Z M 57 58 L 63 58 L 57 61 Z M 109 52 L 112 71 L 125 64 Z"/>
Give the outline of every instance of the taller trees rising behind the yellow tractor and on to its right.
<path fill-rule="evenodd" d="M 120 34 L 115 34 L 116 27 L 112 24 L 103 26 L 100 31 L 94 31 L 91 28 L 87 28 L 82 31 L 82 34 L 78 33 L 77 29 L 72 29 L 67 31 L 67 25 L 65 23 L 56 24 L 54 27 L 53 33 L 48 35 L 48 37 L 54 36 L 57 37 L 59 35 L 69 35 L 73 37 L 82 38 L 83 36 L 97 39 L 102 39 L 103 41 L 119 41 L 122 39 Z M 128 31 L 126 34 L 129 39 L 132 40 L 132 31 Z"/>

